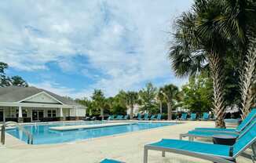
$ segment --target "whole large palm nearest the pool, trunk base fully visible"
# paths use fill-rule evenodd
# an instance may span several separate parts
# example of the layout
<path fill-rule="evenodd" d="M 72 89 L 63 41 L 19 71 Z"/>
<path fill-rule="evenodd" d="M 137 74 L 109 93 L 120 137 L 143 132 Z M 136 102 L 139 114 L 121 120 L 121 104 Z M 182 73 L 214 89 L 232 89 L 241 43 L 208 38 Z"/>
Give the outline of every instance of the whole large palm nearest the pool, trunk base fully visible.
<path fill-rule="evenodd" d="M 177 20 L 176 42 L 170 47 L 170 60 L 177 76 L 210 69 L 217 127 L 225 127 L 222 62 L 226 40 L 219 34 L 214 20 L 224 11 L 217 1 L 196 0 L 192 12 L 183 13 Z"/>

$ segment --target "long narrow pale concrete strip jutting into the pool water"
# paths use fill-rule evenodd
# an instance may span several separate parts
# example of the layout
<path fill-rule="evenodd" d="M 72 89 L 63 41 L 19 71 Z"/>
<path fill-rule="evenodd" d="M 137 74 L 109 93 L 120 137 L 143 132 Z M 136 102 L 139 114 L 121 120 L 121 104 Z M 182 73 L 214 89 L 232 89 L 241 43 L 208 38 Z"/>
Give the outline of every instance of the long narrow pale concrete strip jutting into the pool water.
<path fill-rule="evenodd" d="M 77 129 L 97 129 L 97 128 L 104 128 L 104 127 L 133 125 L 133 124 L 136 124 L 136 123 L 135 122 L 115 122 L 115 123 L 97 124 L 97 125 L 71 125 L 71 126 L 50 127 L 49 129 L 56 130 L 56 131 L 70 131 L 70 130 L 77 130 Z"/>

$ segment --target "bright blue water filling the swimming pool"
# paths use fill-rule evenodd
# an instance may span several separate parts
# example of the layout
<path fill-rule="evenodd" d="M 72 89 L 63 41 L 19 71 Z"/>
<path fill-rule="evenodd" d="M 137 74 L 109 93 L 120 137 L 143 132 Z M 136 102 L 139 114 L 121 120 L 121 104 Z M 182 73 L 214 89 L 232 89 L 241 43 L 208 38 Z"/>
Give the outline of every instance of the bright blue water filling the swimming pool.
<path fill-rule="evenodd" d="M 134 132 L 144 129 L 159 128 L 166 125 L 174 125 L 174 123 L 147 123 L 139 122 L 137 124 L 120 125 L 112 127 L 104 127 L 98 129 L 79 129 L 72 131 L 53 131 L 50 127 L 64 126 L 64 125 L 95 125 L 101 124 L 101 121 L 82 121 L 75 123 L 53 123 L 47 125 L 25 125 L 24 128 L 31 132 L 34 137 L 34 144 L 50 144 L 50 143 L 67 143 L 82 139 L 90 139 L 100 136 L 112 136 L 124 132 Z M 106 123 L 106 122 L 104 122 Z M 15 136 L 17 139 L 27 142 L 27 136 L 18 129 L 7 130 L 9 134 Z"/>

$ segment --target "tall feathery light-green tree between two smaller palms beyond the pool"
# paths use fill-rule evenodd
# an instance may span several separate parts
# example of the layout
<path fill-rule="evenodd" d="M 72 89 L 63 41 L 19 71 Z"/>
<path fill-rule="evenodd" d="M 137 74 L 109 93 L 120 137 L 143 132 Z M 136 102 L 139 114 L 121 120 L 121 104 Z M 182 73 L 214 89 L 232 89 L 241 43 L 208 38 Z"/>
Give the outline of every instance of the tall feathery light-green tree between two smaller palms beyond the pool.
<path fill-rule="evenodd" d="M 146 84 L 145 89 L 141 89 L 139 92 L 139 99 L 141 100 L 141 109 L 148 110 L 150 112 L 155 112 L 156 101 L 155 96 L 157 88 L 152 85 L 151 82 Z"/>

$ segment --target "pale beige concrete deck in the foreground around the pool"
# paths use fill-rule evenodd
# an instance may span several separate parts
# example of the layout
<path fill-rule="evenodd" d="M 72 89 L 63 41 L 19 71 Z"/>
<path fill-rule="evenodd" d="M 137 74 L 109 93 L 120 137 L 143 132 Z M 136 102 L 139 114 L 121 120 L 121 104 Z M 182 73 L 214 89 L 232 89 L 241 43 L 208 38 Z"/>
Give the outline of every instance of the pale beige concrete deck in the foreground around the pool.
<path fill-rule="evenodd" d="M 6 134 L 5 146 L 0 145 L 0 162 L 98 163 L 104 158 L 112 158 L 127 163 L 140 163 L 143 162 L 144 144 L 156 142 L 163 138 L 178 139 L 180 133 L 185 133 L 196 127 L 214 127 L 214 121 L 184 121 L 179 125 L 86 139 L 75 143 L 50 145 L 27 145 Z M 238 157 L 236 161 L 238 163 L 251 163 L 251 160 L 243 157 Z M 159 151 L 149 150 L 148 152 L 148 163 L 188 162 L 207 163 L 210 161 L 170 153 L 166 153 L 166 157 L 162 158 Z"/>

